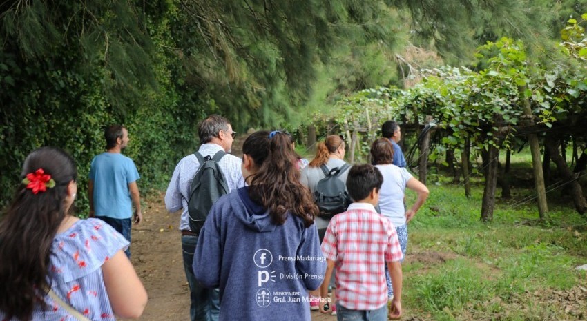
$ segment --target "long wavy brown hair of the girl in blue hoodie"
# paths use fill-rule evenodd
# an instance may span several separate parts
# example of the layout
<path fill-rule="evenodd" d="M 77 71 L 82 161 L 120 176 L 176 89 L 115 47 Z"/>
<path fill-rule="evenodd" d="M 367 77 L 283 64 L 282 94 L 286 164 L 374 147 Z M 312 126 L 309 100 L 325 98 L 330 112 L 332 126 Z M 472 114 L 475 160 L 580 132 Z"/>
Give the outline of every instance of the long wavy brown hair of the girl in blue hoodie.
<path fill-rule="evenodd" d="M 314 223 L 318 208 L 308 188 L 300 184 L 300 171 L 291 139 L 286 133 L 253 133 L 242 144 L 242 153 L 253 158 L 257 173 L 251 179 L 251 200 L 269 209 L 271 220 L 283 224 L 287 212 L 304 220 L 306 227 Z"/>

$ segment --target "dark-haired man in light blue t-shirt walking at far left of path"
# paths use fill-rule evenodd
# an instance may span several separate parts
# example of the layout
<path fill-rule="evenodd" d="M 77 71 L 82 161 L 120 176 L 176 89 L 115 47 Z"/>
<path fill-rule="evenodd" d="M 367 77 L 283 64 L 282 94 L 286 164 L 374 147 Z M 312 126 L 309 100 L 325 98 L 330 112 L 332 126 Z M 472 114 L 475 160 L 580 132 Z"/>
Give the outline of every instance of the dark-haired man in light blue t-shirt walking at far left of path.
<path fill-rule="evenodd" d="M 135 206 L 135 224 L 143 220 L 141 197 L 137 179 L 137 166 L 121 154 L 128 145 L 128 130 L 120 125 L 104 130 L 106 153 L 97 155 L 90 167 L 88 197 L 90 217 L 96 217 L 110 224 L 131 242 L 131 217 Z M 130 246 L 126 256 L 131 257 Z"/>

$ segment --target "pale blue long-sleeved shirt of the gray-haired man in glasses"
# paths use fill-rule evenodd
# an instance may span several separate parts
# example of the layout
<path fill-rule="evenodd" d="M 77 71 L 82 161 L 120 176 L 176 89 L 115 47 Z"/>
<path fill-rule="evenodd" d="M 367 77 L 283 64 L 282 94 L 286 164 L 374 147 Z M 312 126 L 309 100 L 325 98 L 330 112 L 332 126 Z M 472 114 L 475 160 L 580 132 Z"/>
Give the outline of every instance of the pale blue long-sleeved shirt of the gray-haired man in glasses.
<path fill-rule="evenodd" d="M 222 146 L 213 143 L 202 144 L 198 152 L 202 156 L 208 155 L 213 156 L 219 150 L 222 150 Z M 242 177 L 242 171 L 240 168 L 240 158 L 233 155 L 224 155 L 218 164 L 222 168 L 224 178 L 227 180 L 227 185 L 232 191 L 233 189 L 244 186 L 244 178 Z M 182 209 L 182 219 L 180 221 L 180 230 L 189 231 L 189 218 L 188 218 L 188 197 L 189 187 L 191 181 L 195 175 L 195 172 L 200 168 L 200 163 L 195 155 L 187 155 L 180 160 L 180 163 L 175 166 L 171 182 L 167 186 L 167 193 L 165 193 L 165 207 L 167 211 L 175 212 Z"/>

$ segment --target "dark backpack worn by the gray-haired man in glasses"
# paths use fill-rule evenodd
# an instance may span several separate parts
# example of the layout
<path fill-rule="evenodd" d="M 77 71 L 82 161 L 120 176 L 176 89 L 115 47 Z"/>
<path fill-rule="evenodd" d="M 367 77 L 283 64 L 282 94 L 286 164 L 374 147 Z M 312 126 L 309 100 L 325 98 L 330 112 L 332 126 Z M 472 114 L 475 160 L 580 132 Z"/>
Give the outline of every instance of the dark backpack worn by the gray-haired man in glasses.
<path fill-rule="evenodd" d="M 202 154 L 193 153 L 200 162 L 200 168 L 195 172 L 189 188 L 188 216 L 189 228 L 199 234 L 212 204 L 220 196 L 229 193 L 229 186 L 218 162 L 226 153 L 218 151 L 214 157 L 202 157 Z"/>

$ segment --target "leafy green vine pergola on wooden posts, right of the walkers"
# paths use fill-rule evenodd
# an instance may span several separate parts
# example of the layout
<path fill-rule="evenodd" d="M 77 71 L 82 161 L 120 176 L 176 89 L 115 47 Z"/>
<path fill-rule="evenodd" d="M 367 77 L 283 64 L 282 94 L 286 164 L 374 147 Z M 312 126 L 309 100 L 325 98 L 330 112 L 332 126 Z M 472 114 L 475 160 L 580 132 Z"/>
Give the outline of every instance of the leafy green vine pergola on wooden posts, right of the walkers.
<path fill-rule="evenodd" d="M 577 182 L 577 173 L 587 166 L 587 39 L 581 22 L 568 21 L 561 32 L 561 57 L 548 63 L 530 62 L 521 41 L 504 37 L 479 48 L 477 56 L 485 64 L 479 71 L 450 66 L 423 70 L 423 80 L 412 88 L 367 89 L 339 101 L 340 112 L 332 121 L 347 133 L 351 161 L 355 155 L 368 155 L 383 121 L 401 121 L 403 128 L 418 134 L 418 172 L 423 182 L 430 159 L 445 155 L 454 162 L 454 153 L 461 153 L 469 194 L 470 157 L 481 155 L 485 175 L 481 219 L 492 220 L 499 150 L 507 150 L 508 168 L 511 151 L 530 144 L 540 217 L 548 211 L 545 174 L 550 179 L 551 161 L 557 165 L 559 184 L 570 186 L 575 208 L 584 213 L 587 202 Z M 431 125 L 433 130 L 428 130 Z M 431 148 L 433 131 L 437 139 Z M 566 162 L 568 142 L 573 144 L 572 169 Z M 502 187 L 509 179 L 504 181 Z"/>

